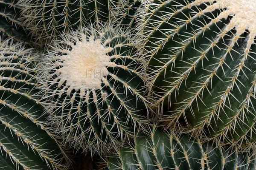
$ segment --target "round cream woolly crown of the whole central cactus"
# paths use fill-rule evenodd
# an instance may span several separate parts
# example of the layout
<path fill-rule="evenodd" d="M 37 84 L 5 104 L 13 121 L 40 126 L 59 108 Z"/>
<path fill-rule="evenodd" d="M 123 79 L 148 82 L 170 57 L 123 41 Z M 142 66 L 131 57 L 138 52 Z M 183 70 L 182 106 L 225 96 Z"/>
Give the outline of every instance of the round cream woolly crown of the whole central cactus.
<path fill-rule="evenodd" d="M 61 56 L 61 80 L 76 90 L 100 89 L 102 78 L 108 76 L 108 49 L 100 40 L 77 41 L 71 48 L 72 51 L 67 50 L 67 55 Z"/>

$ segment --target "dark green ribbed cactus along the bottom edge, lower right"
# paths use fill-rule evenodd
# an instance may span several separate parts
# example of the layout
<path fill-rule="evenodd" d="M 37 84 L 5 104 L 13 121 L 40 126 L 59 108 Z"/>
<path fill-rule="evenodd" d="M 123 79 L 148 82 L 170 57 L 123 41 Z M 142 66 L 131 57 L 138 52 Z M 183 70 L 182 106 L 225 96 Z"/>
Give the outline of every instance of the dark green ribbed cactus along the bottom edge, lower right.
<path fill-rule="evenodd" d="M 107 166 L 108 170 L 255 170 L 255 162 L 249 152 L 225 150 L 214 142 L 202 144 L 193 136 L 153 128 L 150 135 L 139 134 L 134 144 L 109 157 Z"/>

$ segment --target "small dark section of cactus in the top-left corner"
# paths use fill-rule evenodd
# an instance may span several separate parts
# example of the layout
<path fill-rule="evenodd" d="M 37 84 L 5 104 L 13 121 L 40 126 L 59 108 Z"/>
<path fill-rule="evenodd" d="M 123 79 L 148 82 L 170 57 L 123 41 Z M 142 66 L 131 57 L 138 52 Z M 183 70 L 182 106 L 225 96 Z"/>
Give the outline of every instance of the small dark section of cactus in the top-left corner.
<path fill-rule="evenodd" d="M 20 42 L 27 41 L 22 22 L 17 0 L 0 0 L 0 35 Z"/>

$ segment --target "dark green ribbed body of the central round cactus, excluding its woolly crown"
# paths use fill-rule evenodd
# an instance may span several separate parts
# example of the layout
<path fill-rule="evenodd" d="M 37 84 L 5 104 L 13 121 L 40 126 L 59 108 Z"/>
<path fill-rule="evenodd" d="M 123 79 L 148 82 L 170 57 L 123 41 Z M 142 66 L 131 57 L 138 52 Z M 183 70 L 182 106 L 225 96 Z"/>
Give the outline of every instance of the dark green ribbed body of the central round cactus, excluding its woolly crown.
<path fill-rule="evenodd" d="M 46 87 L 46 95 L 52 96 L 52 91 L 57 92 L 49 97 L 49 101 L 54 104 L 54 114 L 49 119 L 49 124 L 56 128 L 58 136 L 62 136 L 64 142 L 76 148 L 87 150 L 92 147 L 93 152 L 105 154 L 99 148 L 104 148 L 105 144 L 110 144 L 109 148 L 116 147 L 127 136 L 134 136 L 142 122 L 147 120 L 148 114 L 145 99 L 142 97 L 145 93 L 145 82 L 138 73 L 141 63 L 137 59 L 137 49 L 129 38 L 120 36 L 115 31 L 105 31 L 101 35 L 102 44 L 106 48 L 112 48 L 107 54 L 112 57 L 110 62 L 117 65 L 107 67 L 109 74 L 104 79 L 108 83 L 102 82 L 100 89 L 86 89 L 85 96 L 80 96 L 81 89 L 73 89 L 67 94 L 69 85 L 64 82 L 58 86 L 61 78 L 49 66 L 47 69 L 53 74 L 46 80 L 50 82 L 49 87 Z M 104 43 L 106 40 L 109 42 Z M 122 57 L 113 57 L 114 55 Z M 58 80 L 53 82 L 55 78 Z M 61 89 L 65 90 L 59 95 Z M 103 93 L 107 94 L 105 99 L 102 97 Z M 75 98 L 73 103 L 72 98 Z"/>

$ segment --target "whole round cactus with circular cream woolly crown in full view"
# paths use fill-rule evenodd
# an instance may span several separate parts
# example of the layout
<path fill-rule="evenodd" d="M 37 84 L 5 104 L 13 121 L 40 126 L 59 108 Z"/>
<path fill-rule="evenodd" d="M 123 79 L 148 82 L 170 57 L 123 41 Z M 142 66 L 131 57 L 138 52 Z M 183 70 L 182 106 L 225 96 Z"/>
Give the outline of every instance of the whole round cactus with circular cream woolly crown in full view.
<path fill-rule="evenodd" d="M 39 68 L 57 136 L 99 154 L 133 136 L 148 116 L 139 52 L 109 25 L 65 34 Z"/>

